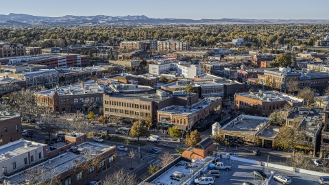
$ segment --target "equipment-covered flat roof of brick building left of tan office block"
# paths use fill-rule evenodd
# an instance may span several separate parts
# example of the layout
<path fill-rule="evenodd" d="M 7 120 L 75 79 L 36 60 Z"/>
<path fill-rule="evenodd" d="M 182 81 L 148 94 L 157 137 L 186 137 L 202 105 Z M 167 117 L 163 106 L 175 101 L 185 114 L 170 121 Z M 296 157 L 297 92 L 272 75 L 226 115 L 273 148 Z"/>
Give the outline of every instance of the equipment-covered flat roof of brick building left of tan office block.
<path fill-rule="evenodd" d="M 84 94 L 103 94 L 105 84 L 103 83 L 95 83 L 95 81 L 90 80 L 88 82 L 84 82 L 84 88 L 82 88 L 82 84 L 72 84 L 68 86 L 62 86 L 60 88 L 53 88 L 49 90 L 42 90 L 36 92 L 39 95 L 48 95 L 53 96 L 56 92 L 60 96 L 72 96 L 72 95 L 84 95 Z"/>

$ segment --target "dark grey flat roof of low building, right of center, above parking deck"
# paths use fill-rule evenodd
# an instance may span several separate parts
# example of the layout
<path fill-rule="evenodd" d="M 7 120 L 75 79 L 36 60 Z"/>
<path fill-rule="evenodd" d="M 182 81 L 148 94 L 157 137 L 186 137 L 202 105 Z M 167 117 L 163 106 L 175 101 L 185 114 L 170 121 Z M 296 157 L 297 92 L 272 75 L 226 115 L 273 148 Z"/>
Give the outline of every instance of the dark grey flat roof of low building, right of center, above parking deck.
<path fill-rule="evenodd" d="M 240 132 L 241 134 L 256 134 L 269 125 L 269 120 L 267 117 L 243 114 L 221 127 L 221 130 Z"/>

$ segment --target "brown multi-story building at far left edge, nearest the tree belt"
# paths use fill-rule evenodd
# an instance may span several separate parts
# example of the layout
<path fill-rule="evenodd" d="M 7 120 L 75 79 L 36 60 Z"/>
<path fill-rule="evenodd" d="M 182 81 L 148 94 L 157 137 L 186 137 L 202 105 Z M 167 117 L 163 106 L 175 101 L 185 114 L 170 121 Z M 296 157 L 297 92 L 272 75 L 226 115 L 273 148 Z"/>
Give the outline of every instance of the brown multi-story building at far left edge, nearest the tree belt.
<path fill-rule="evenodd" d="M 25 46 L 20 43 L 0 42 L 0 58 L 25 56 Z"/>

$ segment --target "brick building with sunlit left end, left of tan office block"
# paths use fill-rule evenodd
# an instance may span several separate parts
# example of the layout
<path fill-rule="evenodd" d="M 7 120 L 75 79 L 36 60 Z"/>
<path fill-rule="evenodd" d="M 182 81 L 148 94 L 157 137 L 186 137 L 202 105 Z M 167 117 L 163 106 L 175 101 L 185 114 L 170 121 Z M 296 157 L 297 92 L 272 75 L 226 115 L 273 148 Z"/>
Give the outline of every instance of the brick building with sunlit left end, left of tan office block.
<path fill-rule="evenodd" d="M 49 112 L 75 113 L 77 110 L 88 110 L 84 103 L 95 102 L 95 110 L 103 104 L 104 84 L 94 81 L 72 84 L 60 88 L 36 92 L 36 103 L 44 106 Z"/>

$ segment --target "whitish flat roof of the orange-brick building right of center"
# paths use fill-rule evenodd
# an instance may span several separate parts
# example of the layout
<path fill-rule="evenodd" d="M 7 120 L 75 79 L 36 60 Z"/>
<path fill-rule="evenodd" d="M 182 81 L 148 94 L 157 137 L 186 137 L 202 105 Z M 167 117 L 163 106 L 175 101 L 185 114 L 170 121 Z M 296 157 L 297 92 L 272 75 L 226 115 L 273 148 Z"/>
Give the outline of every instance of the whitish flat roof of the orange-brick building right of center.
<path fill-rule="evenodd" d="M 304 99 L 293 97 L 290 95 L 278 93 L 275 91 L 265 91 L 263 93 L 253 92 L 253 93 L 236 93 L 243 97 L 248 97 L 252 99 L 262 100 L 263 102 L 269 101 L 291 101 L 291 102 L 304 102 Z"/>

